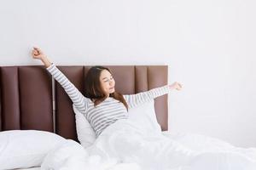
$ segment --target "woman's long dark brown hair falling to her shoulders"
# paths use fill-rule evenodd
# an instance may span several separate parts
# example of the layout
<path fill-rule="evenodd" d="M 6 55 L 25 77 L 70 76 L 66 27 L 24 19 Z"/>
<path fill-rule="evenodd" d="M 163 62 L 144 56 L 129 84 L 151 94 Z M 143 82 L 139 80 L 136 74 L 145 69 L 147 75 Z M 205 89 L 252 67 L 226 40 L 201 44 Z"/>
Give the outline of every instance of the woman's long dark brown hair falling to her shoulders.
<path fill-rule="evenodd" d="M 111 71 L 107 67 L 96 65 L 90 68 L 84 80 L 85 97 L 90 98 L 94 102 L 95 106 L 99 105 L 100 103 L 102 103 L 102 101 L 104 101 L 104 99 L 108 98 L 108 95 L 104 94 L 101 88 L 100 76 L 103 70 L 107 70 L 111 73 Z M 119 102 L 122 102 L 125 105 L 126 110 L 128 111 L 128 105 L 122 94 L 119 94 L 118 92 L 113 92 L 112 94 L 109 94 L 109 97 L 112 97 L 113 99 L 117 99 L 119 100 Z"/>

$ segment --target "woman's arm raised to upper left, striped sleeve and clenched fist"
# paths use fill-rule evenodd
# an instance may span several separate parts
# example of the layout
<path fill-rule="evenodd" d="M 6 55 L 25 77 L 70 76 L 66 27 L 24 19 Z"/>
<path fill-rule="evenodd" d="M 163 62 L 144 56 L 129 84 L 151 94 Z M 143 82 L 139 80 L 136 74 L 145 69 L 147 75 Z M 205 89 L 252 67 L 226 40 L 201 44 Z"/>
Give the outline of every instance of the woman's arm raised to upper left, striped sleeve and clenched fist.
<path fill-rule="evenodd" d="M 32 50 L 32 57 L 34 59 L 40 59 L 44 63 L 47 71 L 49 71 L 55 80 L 61 84 L 61 87 L 64 88 L 77 109 L 81 113 L 85 114 L 90 99 L 85 98 L 84 95 L 80 93 L 79 89 L 67 79 L 67 77 L 55 66 L 55 64 L 50 63 L 49 59 L 41 49 L 34 48 Z"/>

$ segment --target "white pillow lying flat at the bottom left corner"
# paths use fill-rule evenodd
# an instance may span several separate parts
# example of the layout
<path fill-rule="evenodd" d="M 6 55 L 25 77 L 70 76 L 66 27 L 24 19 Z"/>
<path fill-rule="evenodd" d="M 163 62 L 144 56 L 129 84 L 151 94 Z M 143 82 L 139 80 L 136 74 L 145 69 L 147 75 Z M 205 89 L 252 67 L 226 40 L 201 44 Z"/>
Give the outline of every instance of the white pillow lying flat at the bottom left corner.
<path fill-rule="evenodd" d="M 0 133 L 0 169 L 38 167 L 49 150 L 64 140 L 45 131 L 3 131 Z"/>

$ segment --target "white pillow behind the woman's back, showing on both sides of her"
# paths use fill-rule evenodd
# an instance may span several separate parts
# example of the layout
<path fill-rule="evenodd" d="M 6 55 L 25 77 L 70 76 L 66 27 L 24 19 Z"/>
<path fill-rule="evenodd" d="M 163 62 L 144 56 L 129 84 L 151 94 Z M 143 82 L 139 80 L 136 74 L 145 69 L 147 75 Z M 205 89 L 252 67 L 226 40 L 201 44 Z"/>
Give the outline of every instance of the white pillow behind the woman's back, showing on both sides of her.
<path fill-rule="evenodd" d="M 79 142 L 84 148 L 87 148 L 95 142 L 96 133 L 90 126 L 90 122 L 87 121 L 84 114 L 79 112 L 75 105 L 73 105 L 73 111 L 75 112 Z M 143 132 L 161 132 L 154 112 L 154 99 L 143 105 L 129 108 L 128 115 L 129 119 L 137 123 L 138 127 L 141 127 Z"/>

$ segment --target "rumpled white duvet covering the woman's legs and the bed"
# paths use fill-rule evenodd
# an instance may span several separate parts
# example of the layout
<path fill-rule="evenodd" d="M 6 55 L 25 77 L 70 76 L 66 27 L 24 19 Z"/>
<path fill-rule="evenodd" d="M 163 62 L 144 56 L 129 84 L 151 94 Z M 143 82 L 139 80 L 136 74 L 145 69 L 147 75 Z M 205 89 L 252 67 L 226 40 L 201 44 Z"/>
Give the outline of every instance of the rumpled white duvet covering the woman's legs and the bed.
<path fill-rule="evenodd" d="M 107 127 L 90 148 L 67 140 L 45 157 L 41 169 L 255 170 L 256 149 L 196 134 L 143 132 L 129 120 Z"/>

